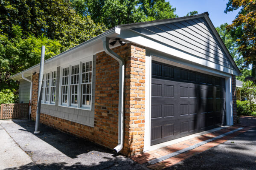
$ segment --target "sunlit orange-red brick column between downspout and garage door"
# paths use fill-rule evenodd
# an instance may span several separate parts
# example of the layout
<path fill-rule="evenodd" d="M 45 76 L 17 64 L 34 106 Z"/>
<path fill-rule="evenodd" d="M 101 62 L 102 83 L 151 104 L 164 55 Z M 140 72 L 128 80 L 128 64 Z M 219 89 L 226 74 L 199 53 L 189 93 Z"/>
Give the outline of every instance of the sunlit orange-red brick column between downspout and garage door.
<path fill-rule="evenodd" d="M 125 155 L 143 151 L 145 124 L 145 48 L 131 45 L 125 70 Z"/>

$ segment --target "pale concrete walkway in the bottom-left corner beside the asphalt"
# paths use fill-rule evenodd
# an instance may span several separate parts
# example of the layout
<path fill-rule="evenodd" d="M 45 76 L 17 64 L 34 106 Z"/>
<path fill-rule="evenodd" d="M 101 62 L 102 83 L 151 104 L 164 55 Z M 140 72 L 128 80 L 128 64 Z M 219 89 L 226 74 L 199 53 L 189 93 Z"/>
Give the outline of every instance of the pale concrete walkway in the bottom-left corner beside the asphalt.
<path fill-rule="evenodd" d="M 2 123 L 6 123 L 4 121 Z M 10 121 L 8 121 L 10 122 Z M 32 165 L 32 170 L 39 170 L 34 161 L 19 147 L 0 125 L 0 170 Z"/>

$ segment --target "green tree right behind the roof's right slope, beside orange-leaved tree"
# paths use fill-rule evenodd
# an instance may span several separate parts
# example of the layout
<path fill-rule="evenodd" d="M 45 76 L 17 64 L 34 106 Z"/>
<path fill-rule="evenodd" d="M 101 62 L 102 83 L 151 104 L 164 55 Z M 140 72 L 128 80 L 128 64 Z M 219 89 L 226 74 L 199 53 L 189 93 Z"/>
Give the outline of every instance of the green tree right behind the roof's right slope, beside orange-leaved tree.
<path fill-rule="evenodd" d="M 233 57 L 233 59 L 236 62 L 236 65 L 238 66 L 239 70 L 242 73 L 242 75 L 237 76 L 236 79 L 244 81 L 245 77 L 251 75 L 251 70 L 244 64 L 245 61 L 241 52 L 239 52 L 238 42 L 236 41 L 236 38 L 233 36 L 234 34 L 236 34 L 236 32 L 239 31 L 228 31 L 226 28 L 227 25 L 227 23 L 221 24 L 221 26 L 216 27 L 216 30 L 220 35 L 222 41 L 224 42 L 225 46 L 227 47 L 228 51 L 230 52 L 231 57 Z"/>

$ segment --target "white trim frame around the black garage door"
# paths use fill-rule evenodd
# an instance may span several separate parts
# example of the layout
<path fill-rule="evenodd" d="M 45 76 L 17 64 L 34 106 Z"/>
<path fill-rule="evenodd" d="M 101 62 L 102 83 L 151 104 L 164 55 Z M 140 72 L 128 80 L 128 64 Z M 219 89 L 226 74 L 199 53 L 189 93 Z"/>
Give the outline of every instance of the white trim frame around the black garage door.
<path fill-rule="evenodd" d="M 150 127 L 151 127 L 151 61 L 163 62 L 169 65 L 174 65 L 177 67 L 186 68 L 192 71 L 199 71 L 201 73 L 210 74 L 218 77 L 224 77 L 226 79 L 226 112 L 227 112 L 227 125 L 233 125 L 233 101 L 232 101 L 232 76 L 223 72 L 218 72 L 211 70 L 207 67 L 195 66 L 192 63 L 176 60 L 175 58 L 166 57 L 161 54 L 157 54 L 155 51 L 146 49 L 145 56 L 145 135 L 144 135 L 144 149 L 143 151 L 148 151 L 152 149 L 157 149 L 160 147 L 165 147 L 173 142 L 179 142 L 182 139 L 174 139 L 172 141 L 163 142 L 150 146 Z M 197 68 L 195 68 L 197 67 Z M 204 132 L 202 132 L 204 133 Z M 208 133 L 207 131 L 205 133 Z M 201 133 L 196 133 L 194 135 L 200 135 Z M 185 136 L 186 137 L 186 136 Z"/>

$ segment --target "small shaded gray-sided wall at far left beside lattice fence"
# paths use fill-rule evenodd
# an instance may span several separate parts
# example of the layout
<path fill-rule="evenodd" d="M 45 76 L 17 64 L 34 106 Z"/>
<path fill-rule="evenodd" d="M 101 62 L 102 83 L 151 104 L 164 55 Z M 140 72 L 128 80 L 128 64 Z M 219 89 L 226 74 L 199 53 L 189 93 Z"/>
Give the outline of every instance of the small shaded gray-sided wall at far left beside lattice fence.
<path fill-rule="evenodd" d="M 31 79 L 31 76 L 26 78 Z M 30 82 L 24 79 L 20 79 L 19 103 L 29 103 L 29 95 L 30 95 Z"/>

